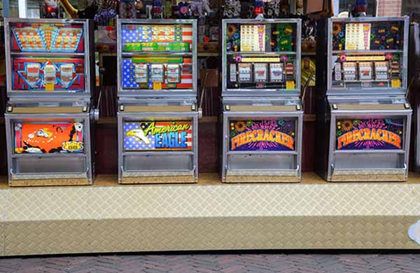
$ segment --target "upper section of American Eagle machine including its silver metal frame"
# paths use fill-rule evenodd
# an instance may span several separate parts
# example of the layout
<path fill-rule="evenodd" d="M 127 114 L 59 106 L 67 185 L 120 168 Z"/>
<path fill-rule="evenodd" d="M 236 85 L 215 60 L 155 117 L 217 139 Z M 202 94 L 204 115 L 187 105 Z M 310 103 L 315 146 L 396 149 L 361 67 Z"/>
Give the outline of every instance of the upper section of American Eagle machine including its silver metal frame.
<path fill-rule="evenodd" d="M 118 20 L 120 97 L 196 97 L 196 20 Z"/>

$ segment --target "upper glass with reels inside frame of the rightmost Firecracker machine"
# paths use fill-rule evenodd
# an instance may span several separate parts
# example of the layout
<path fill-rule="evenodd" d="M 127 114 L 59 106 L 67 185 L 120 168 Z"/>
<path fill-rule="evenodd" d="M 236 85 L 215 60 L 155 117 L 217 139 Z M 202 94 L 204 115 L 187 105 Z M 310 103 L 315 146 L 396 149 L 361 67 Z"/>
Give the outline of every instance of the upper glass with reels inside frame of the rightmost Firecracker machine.
<path fill-rule="evenodd" d="M 402 88 L 404 21 L 332 22 L 332 87 Z"/>

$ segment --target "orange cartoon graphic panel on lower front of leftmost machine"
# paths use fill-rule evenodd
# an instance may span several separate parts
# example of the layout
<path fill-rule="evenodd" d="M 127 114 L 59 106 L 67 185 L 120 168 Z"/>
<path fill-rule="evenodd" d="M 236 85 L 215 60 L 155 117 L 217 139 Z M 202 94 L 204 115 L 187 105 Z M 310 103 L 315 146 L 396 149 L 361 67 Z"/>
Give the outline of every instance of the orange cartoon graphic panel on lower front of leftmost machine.
<path fill-rule="evenodd" d="M 83 153 L 83 123 L 15 123 L 15 153 Z"/>

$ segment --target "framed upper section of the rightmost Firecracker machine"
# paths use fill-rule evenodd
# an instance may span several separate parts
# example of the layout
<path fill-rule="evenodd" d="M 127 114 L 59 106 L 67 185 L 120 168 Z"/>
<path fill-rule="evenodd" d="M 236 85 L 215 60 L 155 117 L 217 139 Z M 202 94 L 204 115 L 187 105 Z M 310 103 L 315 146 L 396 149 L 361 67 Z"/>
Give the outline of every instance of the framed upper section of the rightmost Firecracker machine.
<path fill-rule="evenodd" d="M 408 18 L 332 18 L 328 90 L 405 94 Z"/>

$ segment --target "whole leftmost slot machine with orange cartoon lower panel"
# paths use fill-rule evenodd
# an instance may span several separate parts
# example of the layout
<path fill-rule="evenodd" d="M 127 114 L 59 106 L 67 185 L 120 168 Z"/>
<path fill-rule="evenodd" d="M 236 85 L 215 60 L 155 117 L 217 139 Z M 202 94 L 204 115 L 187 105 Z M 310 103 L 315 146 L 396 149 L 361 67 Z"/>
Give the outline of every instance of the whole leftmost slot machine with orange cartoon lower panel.
<path fill-rule="evenodd" d="M 5 18 L 10 186 L 92 184 L 88 20 Z"/>

